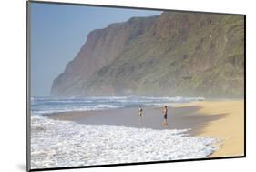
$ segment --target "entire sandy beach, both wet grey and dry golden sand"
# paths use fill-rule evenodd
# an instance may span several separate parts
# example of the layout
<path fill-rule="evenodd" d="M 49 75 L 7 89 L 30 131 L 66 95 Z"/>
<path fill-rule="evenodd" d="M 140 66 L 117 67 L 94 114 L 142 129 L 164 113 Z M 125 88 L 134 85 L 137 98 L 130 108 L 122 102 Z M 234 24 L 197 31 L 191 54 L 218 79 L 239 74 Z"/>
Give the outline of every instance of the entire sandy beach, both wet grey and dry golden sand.
<path fill-rule="evenodd" d="M 162 109 L 138 108 L 65 112 L 46 115 L 56 120 L 90 125 L 147 127 L 153 129 L 187 129 L 190 136 L 216 137 L 221 147 L 210 157 L 242 156 L 244 148 L 244 101 L 202 101 L 169 106 L 168 125 L 163 123 Z"/>

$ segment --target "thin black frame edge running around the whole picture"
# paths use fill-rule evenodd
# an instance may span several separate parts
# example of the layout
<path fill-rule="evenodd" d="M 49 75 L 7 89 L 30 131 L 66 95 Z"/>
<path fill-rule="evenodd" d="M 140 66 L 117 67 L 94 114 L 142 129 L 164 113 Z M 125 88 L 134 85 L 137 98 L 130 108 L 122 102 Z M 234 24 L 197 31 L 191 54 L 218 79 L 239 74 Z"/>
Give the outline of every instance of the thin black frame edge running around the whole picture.
<path fill-rule="evenodd" d="M 95 7 L 113 7 L 123 9 L 140 9 L 140 10 L 159 10 L 159 11 L 176 11 L 183 13 L 200 13 L 200 14 L 212 14 L 212 15 L 242 15 L 244 17 L 244 152 L 241 156 L 233 157 L 206 157 L 195 159 L 179 159 L 169 161 L 152 161 L 152 162 L 138 162 L 138 163 L 122 163 L 122 164 L 108 164 L 108 165 L 94 165 L 94 166 L 81 166 L 81 167 L 49 167 L 49 168 L 35 168 L 31 169 L 30 159 L 30 139 L 31 139 L 31 120 L 30 120 L 30 3 L 39 4 L 54 4 L 54 5 L 80 5 L 80 6 L 95 6 Z M 80 3 L 64 3 L 64 2 L 51 2 L 51 1 L 26 1 L 26 171 L 49 171 L 49 170 L 64 170 L 64 169 L 81 169 L 91 167 L 122 167 L 122 166 L 138 166 L 148 164 L 163 164 L 163 163 L 175 163 L 175 162 L 193 162 L 193 161 L 206 161 L 206 160 L 218 160 L 218 159 L 235 159 L 246 157 L 246 15 L 245 14 L 231 14 L 231 13 L 218 13 L 218 12 L 203 12 L 203 11 L 189 11 L 189 10 L 174 10 L 174 9 L 159 9 L 148 7 L 135 7 L 135 6 L 116 6 L 116 5 L 92 5 L 92 4 L 80 4 Z"/>

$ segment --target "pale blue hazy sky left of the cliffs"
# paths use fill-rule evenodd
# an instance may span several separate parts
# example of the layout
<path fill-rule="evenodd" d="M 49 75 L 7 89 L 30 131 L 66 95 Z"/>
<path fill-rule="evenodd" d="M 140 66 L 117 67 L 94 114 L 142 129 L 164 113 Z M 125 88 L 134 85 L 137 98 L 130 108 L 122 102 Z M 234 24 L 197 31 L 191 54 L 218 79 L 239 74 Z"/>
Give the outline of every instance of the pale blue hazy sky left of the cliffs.
<path fill-rule="evenodd" d="M 31 95 L 48 96 L 53 80 L 86 43 L 87 34 L 132 16 L 160 11 L 30 3 Z"/>

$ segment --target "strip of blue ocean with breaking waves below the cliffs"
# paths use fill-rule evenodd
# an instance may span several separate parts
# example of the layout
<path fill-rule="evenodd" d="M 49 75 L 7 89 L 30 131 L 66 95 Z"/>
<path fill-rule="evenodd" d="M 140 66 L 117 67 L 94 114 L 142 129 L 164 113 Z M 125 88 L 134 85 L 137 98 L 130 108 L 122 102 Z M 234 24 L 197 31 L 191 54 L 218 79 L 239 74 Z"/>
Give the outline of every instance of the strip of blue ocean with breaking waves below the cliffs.
<path fill-rule="evenodd" d="M 97 96 L 85 98 L 32 97 L 32 115 L 68 111 L 105 110 L 122 107 L 164 106 L 197 101 L 201 97 Z"/>

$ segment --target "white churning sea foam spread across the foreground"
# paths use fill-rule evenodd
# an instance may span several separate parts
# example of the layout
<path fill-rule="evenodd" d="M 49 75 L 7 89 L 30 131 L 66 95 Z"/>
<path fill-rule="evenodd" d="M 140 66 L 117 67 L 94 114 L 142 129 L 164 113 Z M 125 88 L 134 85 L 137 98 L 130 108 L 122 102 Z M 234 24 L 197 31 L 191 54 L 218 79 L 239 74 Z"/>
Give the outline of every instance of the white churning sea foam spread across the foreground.
<path fill-rule="evenodd" d="M 31 117 L 31 167 L 78 167 L 209 156 L 215 138 L 184 130 L 82 125 Z"/>

